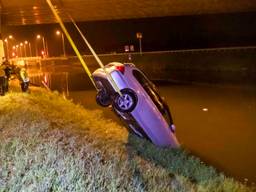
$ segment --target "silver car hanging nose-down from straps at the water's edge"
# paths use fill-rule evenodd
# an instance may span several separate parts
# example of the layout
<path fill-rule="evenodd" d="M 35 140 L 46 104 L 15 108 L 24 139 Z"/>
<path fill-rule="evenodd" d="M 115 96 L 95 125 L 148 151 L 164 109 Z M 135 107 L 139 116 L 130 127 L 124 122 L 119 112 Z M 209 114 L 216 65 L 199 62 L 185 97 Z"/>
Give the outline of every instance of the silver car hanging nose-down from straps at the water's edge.
<path fill-rule="evenodd" d="M 107 73 L 121 94 L 115 91 Z M 160 147 L 179 147 L 167 103 L 134 64 L 111 62 L 104 69 L 96 69 L 92 77 L 98 90 L 96 102 L 103 107 L 112 106 L 129 131 Z"/>

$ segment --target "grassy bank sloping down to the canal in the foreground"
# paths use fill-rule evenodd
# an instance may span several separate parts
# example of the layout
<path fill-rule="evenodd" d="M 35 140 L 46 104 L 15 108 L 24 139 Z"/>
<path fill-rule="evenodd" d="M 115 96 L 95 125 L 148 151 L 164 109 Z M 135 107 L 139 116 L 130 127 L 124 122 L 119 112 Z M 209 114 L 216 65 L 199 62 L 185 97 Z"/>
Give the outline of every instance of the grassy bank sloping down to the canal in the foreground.
<path fill-rule="evenodd" d="M 255 190 L 42 89 L 0 98 L 0 140 L 0 191 Z"/>

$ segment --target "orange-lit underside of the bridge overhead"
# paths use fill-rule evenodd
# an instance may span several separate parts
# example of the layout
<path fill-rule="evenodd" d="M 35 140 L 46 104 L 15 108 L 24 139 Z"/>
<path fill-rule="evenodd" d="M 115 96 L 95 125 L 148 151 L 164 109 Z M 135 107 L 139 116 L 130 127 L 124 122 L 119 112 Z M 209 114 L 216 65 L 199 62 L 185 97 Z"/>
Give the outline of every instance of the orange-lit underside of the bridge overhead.
<path fill-rule="evenodd" d="M 76 21 L 251 12 L 256 0 L 54 0 L 64 21 L 66 13 Z M 4 25 L 53 23 L 55 19 L 45 0 L 0 0 Z"/>

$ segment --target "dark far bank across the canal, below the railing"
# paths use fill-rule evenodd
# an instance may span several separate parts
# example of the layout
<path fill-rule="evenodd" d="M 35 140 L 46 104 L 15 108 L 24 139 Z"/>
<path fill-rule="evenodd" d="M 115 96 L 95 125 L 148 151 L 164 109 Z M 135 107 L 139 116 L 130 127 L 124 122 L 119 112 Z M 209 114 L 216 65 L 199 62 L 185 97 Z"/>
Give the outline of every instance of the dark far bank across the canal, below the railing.
<path fill-rule="evenodd" d="M 171 52 L 100 55 L 104 64 L 112 61 L 133 62 L 150 79 L 202 83 L 256 83 L 256 48 L 187 50 Z M 92 56 L 84 56 L 91 71 L 98 65 Z M 42 60 L 42 66 L 62 66 L 82 71 L 76 57 L 66 60 Z M 75 68 L 74 68 L 75 67 Z M 49 67 L 47 67 L 49 68 Z M 57 71 L 62 70 L 58 68 Z M 63 69 L 67 70 L 67 68 Z"/>

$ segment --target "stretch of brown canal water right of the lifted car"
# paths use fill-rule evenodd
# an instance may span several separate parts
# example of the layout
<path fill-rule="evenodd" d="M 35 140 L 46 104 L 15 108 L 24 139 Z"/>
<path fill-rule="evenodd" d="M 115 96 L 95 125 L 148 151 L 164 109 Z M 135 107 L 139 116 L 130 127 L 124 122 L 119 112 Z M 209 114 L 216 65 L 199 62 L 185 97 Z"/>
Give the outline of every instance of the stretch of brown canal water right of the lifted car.
<path fill-rule="evenodd" d="M 256 89 L 175 85 L 160 91 L 179 141 L 227 175 L 256 182 Z"/>

